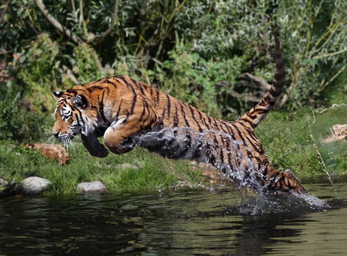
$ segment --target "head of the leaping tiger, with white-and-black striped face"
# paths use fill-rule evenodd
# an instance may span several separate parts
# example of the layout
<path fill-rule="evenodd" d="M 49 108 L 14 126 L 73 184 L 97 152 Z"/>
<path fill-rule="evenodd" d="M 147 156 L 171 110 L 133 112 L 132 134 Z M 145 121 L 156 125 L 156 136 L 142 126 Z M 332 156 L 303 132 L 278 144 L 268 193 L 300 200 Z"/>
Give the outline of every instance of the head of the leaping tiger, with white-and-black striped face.
<path fill-rule="evenodd" d="M 67 90 L 53 92 L 53 96 L 56 100 L 56 121 L 52 133 L 60 143 L 70 144 L 75 135 L 81 133 L 87 136 L 94 131 L 95 113 L 88 103 L 88 95 Z"/>

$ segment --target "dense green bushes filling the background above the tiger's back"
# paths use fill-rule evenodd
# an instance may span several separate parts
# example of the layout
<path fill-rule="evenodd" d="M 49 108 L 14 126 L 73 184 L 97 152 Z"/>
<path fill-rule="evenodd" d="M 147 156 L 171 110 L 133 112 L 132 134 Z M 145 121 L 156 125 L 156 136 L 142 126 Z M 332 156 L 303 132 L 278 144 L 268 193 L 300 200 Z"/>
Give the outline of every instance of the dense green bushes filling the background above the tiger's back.
<path fill-rule="evenodd" d="M 130 0 L 119 1 L 113 16 L 116 2 L 81 1 L 80 8 L 77 1 L 43 1 L 74 37 L 60 33 L 33 1 L 1 6 L 1 48 L 8 62 L 13 53 L 26 58 L 14 76 L 25 95 L 38 92 L 35 105 L 51 111 L 44 89 L 127 74 L 231 119 L 252 106 L 227 96 L 236 78 L 273 77 L 272 31 L 287 60 L 287 110 L 320 105 L 325 88 L 346 72 L 346 1 Z M 225 81 L 229 88 L 216 86 Z"/>

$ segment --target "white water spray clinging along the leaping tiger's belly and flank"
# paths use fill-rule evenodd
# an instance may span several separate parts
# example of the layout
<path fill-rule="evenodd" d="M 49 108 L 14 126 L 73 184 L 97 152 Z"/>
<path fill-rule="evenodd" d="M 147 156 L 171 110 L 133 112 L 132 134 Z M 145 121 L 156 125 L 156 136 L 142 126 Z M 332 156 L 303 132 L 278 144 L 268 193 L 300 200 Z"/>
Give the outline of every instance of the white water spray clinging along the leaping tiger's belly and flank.
<path fill-rule="evenodd" d="M 229 147 L 216 142 L 216 137 L 228 140 Z M 219 130 L 205 130 L 198 133 L 191 128 L 161 128 L 134 137 L 136 143 L 150 151 L 170 159 L 188 159 L 211 164 L 223 174 L 235 180 L 240 186 L 262 189 L 259 163 L 248 157 L 251 149 L 227 133 Z M 245 151 L 239 149 L 243 145 Z M 222 155 L 223 154 L 223 155 Z M 230 155 L 230 160 L 223 157 Z M 264 167 L 263 167 L 264 168 Z"/>

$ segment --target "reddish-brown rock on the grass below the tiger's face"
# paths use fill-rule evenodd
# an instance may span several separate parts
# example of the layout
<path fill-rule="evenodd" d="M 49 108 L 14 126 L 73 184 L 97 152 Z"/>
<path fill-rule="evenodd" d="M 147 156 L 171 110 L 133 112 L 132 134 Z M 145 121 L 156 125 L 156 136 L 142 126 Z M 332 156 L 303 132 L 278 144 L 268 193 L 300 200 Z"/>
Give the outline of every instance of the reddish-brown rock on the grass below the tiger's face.
<path fill-rule="evenodd" d="M 69 154 L 60 144 L 40 144 L 22 145 L 24 148 L 31 148 L 34 151 L 45 155 L 47 159 L 55 159 L 59 164 L 67 164 L 70 161 Z"/>

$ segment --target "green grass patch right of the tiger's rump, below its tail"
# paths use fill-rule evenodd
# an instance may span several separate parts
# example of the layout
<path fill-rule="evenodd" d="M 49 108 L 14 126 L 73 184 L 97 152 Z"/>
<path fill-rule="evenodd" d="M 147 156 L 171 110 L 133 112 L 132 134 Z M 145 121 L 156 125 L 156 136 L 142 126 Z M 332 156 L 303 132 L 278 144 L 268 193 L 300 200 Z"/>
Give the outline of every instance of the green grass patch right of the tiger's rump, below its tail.
<path fill-rule="evenodd" d="M 290 113 L 273 111 L 256 130 L 273 167 L 280 171 L 289 168 L 305 182 L 328 178 L 311 137 L 313 121 L 314 113 L 308 107 Z M 334 173 L 347 175 L 346 168 L 335 168 Z"/>

